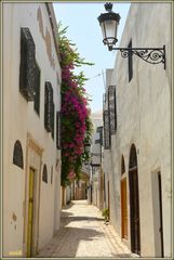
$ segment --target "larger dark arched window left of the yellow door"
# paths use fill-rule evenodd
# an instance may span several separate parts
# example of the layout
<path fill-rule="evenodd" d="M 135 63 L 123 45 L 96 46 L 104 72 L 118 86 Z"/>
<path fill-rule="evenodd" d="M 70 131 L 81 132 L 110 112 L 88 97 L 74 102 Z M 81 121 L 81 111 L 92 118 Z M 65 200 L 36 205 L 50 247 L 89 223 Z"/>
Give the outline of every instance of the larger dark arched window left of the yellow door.
<path fill-rule="evenodd" d="M 14 144 L 14 150 L 13 150 L 13 164 L 21 167 L 22 169 L 24 168 L 24 161 L 23 161 L 23 148 L 21 142 L 17 140 Z"/>

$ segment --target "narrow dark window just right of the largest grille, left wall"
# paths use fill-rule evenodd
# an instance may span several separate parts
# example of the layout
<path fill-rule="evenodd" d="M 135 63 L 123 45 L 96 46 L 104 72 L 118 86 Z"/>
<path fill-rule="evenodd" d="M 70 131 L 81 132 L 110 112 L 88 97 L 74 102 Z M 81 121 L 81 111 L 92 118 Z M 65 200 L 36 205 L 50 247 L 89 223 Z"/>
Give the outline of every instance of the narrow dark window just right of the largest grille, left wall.
<path fill-rule="evenodd" d="M 40 69 L 36 63 L 35 68 L 35 99 L 34 99 L 34 108 L 37 114 L 40 114 Z"/>

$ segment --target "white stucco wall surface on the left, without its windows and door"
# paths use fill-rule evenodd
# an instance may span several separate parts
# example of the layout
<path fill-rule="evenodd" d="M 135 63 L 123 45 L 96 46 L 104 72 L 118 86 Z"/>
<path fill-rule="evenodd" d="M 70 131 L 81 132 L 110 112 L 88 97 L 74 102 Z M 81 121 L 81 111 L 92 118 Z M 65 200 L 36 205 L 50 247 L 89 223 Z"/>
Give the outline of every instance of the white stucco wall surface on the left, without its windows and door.
<path fill-rule="evenodd" d="M 55 62 L 55 68 L 51 65 L 46 44 L 40 32 L 37 20 L 39 8 L 42 13 L 43 29 L 45 31 L 48 27 L 51 36 L 51 54 Z M 19 93 L 21 27 L 29 28 L 36 44 L 36 60 L 41 72 L 40 116 L 34 109 L 34 102 L 26 102 Z M 59 191 L 61 177 L 56 170 L 56 159 L 59 158 L 61 161 L 61 154 L 56 150 L 56 123 L 54 125 L 54 141 L 44 129 L 44 82 L 51 81 L 55 112 L 59 110 L 61 95 L 57 75 L 61 82 L 61 67 L 45 4 L 3 3 L 3 255 L 6 257 L 10 251 L 23 251 L 24 243 L 26 243 L 24 242 L 26 208 L 24 202 L 27 167 L 29 167 L 27 166 L 29 159 L 27 157 L 27 133 L 30 133 L 43 148 L 41 162 L 42 166 L 46 164 L 49 174 L 48 184 L 40 180 L 39 248 L 52 238 L 55 227 L 54 190 Z M 24 169 L 13 165 L 13 147 L 16 140 L 22 143 Z M 51 167 L 53 167 L 53 184 L 51 184 Z M 55 176 L 57 176 L 56 183 L 54 182 Z M 58 199 L 59 197 L 57 197 Z M 58 202 L 56 205 L 56 210 L 59 210 Z M 15 221 L 12 219 L 13 212 L 16 216 Z M 59 219 L 59 212 L 56 218 Z M 58 229 L 58 222 L 56 229 Z"/>

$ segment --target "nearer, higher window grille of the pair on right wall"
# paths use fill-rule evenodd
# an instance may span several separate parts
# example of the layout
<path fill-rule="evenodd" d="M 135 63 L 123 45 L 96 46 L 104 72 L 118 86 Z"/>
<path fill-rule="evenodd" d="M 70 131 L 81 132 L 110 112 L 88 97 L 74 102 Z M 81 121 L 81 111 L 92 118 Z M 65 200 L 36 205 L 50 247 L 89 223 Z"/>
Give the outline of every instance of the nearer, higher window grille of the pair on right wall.
<path fill-rule="evenodd" d="M 117 129 L 116 87 L 115 86 L 109 86 L 108 88 L 108 109 L 109 109 L 110 134 L 115 134 Z"/>

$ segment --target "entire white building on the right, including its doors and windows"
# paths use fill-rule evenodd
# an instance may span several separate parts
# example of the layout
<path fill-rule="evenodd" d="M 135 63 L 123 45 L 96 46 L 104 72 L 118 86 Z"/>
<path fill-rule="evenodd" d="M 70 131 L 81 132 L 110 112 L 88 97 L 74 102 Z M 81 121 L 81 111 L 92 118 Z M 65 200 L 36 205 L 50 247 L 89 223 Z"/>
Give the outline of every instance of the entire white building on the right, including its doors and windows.
<path fill-rule="evenodd" d="M 142 257 L 172 253 L 171 24 L 171 2 L 132 3 L 120 47 L 164 44 L 165 69 L 118 52 L 106 72 L 106 202 L 116 231 Z"/>

